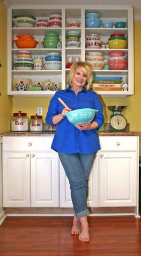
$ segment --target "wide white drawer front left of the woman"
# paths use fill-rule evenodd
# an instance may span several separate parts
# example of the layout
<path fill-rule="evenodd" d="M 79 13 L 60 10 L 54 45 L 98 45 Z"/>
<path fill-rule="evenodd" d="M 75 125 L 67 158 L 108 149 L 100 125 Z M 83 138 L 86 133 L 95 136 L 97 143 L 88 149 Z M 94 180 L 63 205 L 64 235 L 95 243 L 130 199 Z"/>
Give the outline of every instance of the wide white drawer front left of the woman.
<path fill-rule="evenodd" d="M 53 136 L 4 136 L 3 151 L 50 151 Z M 52 150 L 51 150 L 52 151 Z"/>

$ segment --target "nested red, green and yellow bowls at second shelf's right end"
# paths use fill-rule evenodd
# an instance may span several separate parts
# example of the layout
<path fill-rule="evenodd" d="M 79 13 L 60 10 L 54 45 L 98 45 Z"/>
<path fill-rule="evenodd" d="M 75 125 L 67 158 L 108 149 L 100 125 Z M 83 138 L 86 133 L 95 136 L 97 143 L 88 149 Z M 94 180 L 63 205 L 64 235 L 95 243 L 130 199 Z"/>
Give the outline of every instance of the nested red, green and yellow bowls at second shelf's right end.
<path fill-rule="evenodd" d="M 111 49 L 125 49 L 127 47 L 127 39 L 122 33 L 111 34 L 108 38 L 108 44 Z"/>

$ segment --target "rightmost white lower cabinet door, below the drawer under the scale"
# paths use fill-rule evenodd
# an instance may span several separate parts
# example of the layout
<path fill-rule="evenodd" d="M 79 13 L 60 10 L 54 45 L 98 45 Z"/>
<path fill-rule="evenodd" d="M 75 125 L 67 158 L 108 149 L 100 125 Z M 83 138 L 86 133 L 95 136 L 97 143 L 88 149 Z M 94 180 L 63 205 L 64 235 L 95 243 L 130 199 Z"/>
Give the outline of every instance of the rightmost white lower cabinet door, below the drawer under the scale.
<path fill-rule="evenodd" d="M 137 153 L 100 151 L 100 206 L 137 205 Z"/>

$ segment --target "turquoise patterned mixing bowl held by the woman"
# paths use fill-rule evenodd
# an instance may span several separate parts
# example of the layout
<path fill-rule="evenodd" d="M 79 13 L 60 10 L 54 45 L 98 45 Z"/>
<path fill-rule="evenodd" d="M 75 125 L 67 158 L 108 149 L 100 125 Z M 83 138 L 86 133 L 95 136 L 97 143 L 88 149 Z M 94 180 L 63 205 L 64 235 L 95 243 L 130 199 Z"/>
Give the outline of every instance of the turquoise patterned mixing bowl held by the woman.
<path fill-rule="evenodd" d="M 82 124 L 82 123 L 88 123 L 88 121 L 92 121 L 94 118 L 94 115 L 99 112 L 97 109 L 92 108 L 81 108 L 76 109 L 73 111 L 70 111 L 68 113 L 63 114 L 70 123 L 72 124 Z"/>

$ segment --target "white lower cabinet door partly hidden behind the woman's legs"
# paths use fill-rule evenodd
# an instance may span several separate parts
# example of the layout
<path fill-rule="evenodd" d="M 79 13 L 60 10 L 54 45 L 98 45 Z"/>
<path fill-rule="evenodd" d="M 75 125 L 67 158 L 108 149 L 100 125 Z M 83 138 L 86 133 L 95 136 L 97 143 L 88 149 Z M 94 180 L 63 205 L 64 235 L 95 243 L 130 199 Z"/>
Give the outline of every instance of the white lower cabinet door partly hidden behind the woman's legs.
<path fill-rule="evenodd" d="M 98 157 L 94 161 L 89 179 L 88 206 L 98 206 Z M 69 181 L 66 177 L 62 163 L 60 163 L 60 207 L 73 207 L 70 195 Z"/>

